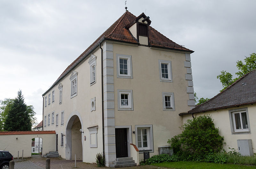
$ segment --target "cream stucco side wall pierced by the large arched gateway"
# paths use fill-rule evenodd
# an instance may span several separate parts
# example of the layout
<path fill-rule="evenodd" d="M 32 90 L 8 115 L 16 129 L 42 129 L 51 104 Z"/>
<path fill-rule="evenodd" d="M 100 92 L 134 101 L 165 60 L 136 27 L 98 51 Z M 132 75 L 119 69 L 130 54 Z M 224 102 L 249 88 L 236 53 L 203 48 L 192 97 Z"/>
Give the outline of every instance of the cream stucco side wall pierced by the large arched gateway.
<path fill-rule="evenodd" d="M 44 123 L 44 116 L 51 114 L 54 111 L 54 124 L 48 125 L 48 119 L 47 124 L 43 124 L 44 130 L 55 130 L 56 134 L 58 134 L 58 151 L 62 158 L 68 158 L 66 157 L 66 124 L 69 121 L 70 114 L 73 114 L 76 112 L 76 114 L 79 114 L 81 116 L 81 127 L 82 131 L 84 133 L 80 133 L 79 129 L 76 132 L 77 134 L 80 134 L 80 138 L 82 141 L 84 153 L 83 153 L 83 161 L 84 162 L 95 162 L 96 154 L 102 152 L 102 109 L 101 109 L 101 50 L 98 48 L 95 50 L 93 55 L 97 56 L 96 58 L 96 83 L 93 85 L 90 85 L 90 65 L 88 63 L 90 56 L 86 58 L 83 62 L 81 62 L 74 71 L 78 72 L 77 74 L 77 96 L 70 98 L 71 95 L 71 81 L 70 76 L 72 74 L 72 71 L 65 76 L 59 83 L 63 85 L 62 87 L 62 103 L 59 104 L 59 89 L 58 85 L 55 85 L 49 92 L 47 92 L 45 96 L 47 96 L 49 93 L 52 93 L 52 91 L 55 91 L 55 101 L 50 105 L 44 107 L 44 115 L 43 115 L 43 123 Z M 75 59 L 75 58 L 74 58 Z M 63 69 L 63 68 L 61 68 Z M 95 100 L 95 111 L 91 112 L 91 99 L 96 98 Z M 48 99 L 47 99 L 48 100 Z M 64 124 L 61 125 L 61 112 L 64 111 Z M 59 118 L 59 124 L 56 126 L 56 114 L 58 114 Z M 47 117 L 48 118 L 48 117 Z M 52 116 L 51 116 L 52 118 Z M 52 122 L 51 122 L 52 123 Z M 89 136 L 89 130 L 88 127 L 92 126 L 100 126 L 98 129 L 98 147 L 97 148 L 90 148 L 90 136 Z M 60 146 L 61 142 L 61 133 L 64 133 L 63 137 L 63 146 Z M 86 141 L 84 141 L 84 136 L 86 136 Z M 78 147 L 78 145 L 77 145 Z M 79 146 L 79 150 L 82 148 Z M 76 149 L 73 149 L 73 153 L 76 151 Z M 90 153 L 88 153 L 90 152 Z M 79 152 L 78 152 L 79 153 Z M 68 153 L 69 154 L 69 153 Z M 77 156 L 78 157 L 78 156 Z"/>

